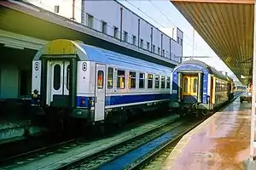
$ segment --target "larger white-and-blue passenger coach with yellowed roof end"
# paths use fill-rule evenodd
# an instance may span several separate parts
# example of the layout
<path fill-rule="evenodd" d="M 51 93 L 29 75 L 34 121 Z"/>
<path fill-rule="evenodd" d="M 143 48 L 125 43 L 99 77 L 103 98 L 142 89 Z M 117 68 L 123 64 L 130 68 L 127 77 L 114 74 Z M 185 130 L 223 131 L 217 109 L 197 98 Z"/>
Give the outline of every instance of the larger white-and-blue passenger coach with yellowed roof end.
<path fill-rule="evenodd" d="M 32 107 L 38 115 L 119 122 L 168 105 L 172 68 L 83 42 L 55 40 L 32 61 Z"/>

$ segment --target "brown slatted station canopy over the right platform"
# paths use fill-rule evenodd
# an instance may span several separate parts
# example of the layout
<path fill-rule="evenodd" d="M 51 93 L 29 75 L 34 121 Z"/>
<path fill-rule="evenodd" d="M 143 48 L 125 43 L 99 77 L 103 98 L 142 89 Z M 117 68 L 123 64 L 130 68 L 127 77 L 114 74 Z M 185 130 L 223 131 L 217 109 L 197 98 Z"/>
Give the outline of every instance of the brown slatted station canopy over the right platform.
<path fill-rule="evenodd" d="M 244 84 L 253 74 L 253 0 L 171 0 Z"/>

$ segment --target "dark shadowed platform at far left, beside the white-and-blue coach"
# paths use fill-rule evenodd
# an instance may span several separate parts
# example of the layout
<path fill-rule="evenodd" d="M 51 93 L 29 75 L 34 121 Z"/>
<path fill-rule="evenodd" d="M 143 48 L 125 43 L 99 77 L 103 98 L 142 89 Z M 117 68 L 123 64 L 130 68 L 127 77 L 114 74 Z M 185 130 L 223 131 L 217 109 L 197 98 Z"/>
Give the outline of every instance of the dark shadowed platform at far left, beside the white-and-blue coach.
<path fill-rule="evenodd" d="M 0 144 L 45 131 L 44 127 L 32 124 L 25 102 L 24 99 L 0 99 Z"/>

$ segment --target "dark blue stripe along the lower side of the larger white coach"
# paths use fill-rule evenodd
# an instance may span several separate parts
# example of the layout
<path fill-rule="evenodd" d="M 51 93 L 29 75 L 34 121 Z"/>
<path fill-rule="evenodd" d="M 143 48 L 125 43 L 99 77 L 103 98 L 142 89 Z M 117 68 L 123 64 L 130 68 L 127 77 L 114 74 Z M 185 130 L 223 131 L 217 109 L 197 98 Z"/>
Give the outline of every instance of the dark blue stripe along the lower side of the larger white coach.
<path fill-rule="evenodd" d="M 170 99 L 171 94 L 135 94 L 135 95 L 119 95 L 119 96 L 106 96 L 105 105 L 122 105 L 131 104 L 145 101 L 153 101 L 160 99 Z M 84 99 L 85 104 L 83 107 L 88 107 L 89 97 L 78 96 L 77 106 L 80 106 L 81 100 Z M 94 99 L 94 98 L 92 98 Z"/>

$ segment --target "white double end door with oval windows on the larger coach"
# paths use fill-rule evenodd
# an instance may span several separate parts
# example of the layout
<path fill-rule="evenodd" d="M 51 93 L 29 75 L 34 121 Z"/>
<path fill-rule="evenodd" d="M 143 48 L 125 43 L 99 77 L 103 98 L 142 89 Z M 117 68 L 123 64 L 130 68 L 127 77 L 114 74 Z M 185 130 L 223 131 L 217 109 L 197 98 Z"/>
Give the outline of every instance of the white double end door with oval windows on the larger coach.
<path fill-rule="evenodd" d="M 68 105 L 70 81 L 70 62 L 69 61 L 48 61 L 47 71 L 47 99 L 46 104 Z"/>

